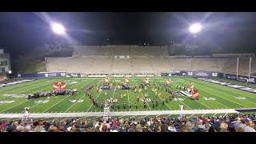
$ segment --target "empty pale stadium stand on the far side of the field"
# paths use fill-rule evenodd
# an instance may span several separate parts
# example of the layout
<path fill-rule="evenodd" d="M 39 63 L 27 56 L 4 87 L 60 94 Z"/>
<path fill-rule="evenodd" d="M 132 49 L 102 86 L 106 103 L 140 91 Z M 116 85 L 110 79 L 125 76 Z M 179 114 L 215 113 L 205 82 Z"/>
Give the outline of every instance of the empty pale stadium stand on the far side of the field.
<path fill-rule="evenodd" d="M 84 74 L 154 74 L 174 70 L 202 70 L 236 74 L 236 57 L 239 57 L 238 74 L 248 75 L 249 57 L 253 56 L 213 54 L 193 58 L 169 56 L 166 46 L 74 46 L 72 57 L 46 58 L 46 70 Z M 251 74 L 255 72 L 256 59 L 253 57 Z"/>

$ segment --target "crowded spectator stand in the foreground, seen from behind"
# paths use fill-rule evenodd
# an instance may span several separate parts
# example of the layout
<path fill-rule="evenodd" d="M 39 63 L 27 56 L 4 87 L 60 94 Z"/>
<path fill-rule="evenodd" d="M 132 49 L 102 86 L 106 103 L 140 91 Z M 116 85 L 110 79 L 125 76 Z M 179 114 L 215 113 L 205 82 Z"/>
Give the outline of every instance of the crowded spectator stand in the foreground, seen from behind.
<path fill-rule="evenodd" d="M 255 132 L 254 114 L 193 118 L 0 120 L 0 132 Z"/>

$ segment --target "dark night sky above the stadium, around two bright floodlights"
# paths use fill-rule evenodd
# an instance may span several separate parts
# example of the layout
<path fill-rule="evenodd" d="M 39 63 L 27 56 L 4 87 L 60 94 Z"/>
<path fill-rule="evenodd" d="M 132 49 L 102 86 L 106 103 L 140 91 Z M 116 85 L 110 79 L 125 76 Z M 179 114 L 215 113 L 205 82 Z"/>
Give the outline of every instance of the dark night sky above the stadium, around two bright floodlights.
<path fill-rule="evenodd" d="M 42 13 L 0 13 L 0 47 L 15 53 L 44 43 L 66 41 L 53 34 Z M 111 42 L 152 45 L 200 42 L 235 52 L 255 52 L 256 13 L 46 13 L 62 22 L 67 34 L 83 45 Z M 204 29 L 194 40 L 188 26 L 201 22 Z"/>

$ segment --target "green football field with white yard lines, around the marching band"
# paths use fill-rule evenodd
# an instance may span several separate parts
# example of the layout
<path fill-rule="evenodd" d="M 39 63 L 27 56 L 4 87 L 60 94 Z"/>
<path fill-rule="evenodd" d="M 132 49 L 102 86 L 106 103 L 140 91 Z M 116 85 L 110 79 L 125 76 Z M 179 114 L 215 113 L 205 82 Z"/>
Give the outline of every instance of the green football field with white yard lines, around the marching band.
<path fill-rule="evenodd" d="M 150 78 L 150 83 L 165 84 L 167 77 Z M 98 92 L 97 86 L 102 86 L 105 78 L 39 78 L 32 82 L 25 82 L 14 86 L 0 88 L 0 114 L 20 114 L 25 112 L 25 107 L 30 106 L 30 114 L 33 113 L 82 113 L 82 112 L 102 112 L 100 105 L 94 106 L 90 97 L 85 94 L 85 87 L 94 85 L 92 92 L 98 102 L 113 98 L 115 102 L 114 109 L 110 111 L 150 111 L 150 110 L 179 110 L 179 105 L 184 106 L 184 110 L 220 110 L 220 109 L 243 109 L 256 108 L 256 94 L 237 90 L 228 86 L 221 86 L 212 82 L 205 82 L 197 78 L 170 77 L 172 80 L 171 88 L 175 91 L 183 91 L 176 88 L 185 86 L 188 88 L 189 82 L 194 83 L 194 89 L 199 90 L 199 100 L 192 100 L 186 95 L 177 95 L 169 102 L 169 96 L 166 90 L 158 89 L 158 95 L 154 94 L 152 88 L 142 89 L 135 93 L 134 90 L 120 90 L 113 85 L 111 90 L 102 90 Z M 110 82 L 115 80 L 124 81 L 124 78 L 110 78 Z M 138 86 L 144 82 L 144 78 L 129 78 L 130 84 Z M 222 79 L 222 81 L 226 81 Z M 66 82 L 67 89 L 77 89 L 78 93 L 74 95 L 58 95 L 46 98 L 32 98 L 28 100 L 27 94 L 41 92 L 42 90 L 53 90 L 54 82 Z M 244 83 L 241 83 L 241 85 Z M 186 90 L 187 91 L 187 90 Z M 106 92 L 106 94 L 105 94 Z M 148 101 L 146 108 L 143 106 L 142 99 L 147 94 Z M 122 95 L 122 96 L 121 96 Z M 140 100 L 137 102 L 137 98 Z M 158 99 L 158 106 L 154 107 L 152 100 Z M 164 101 L 164 102 L 162 102 Z M 126 107 L 123 107 L 126 102 Z M 138 107 L 135 107 L 135 102 Z M 120 107 L 116 105 L 120 104 Z"/>

